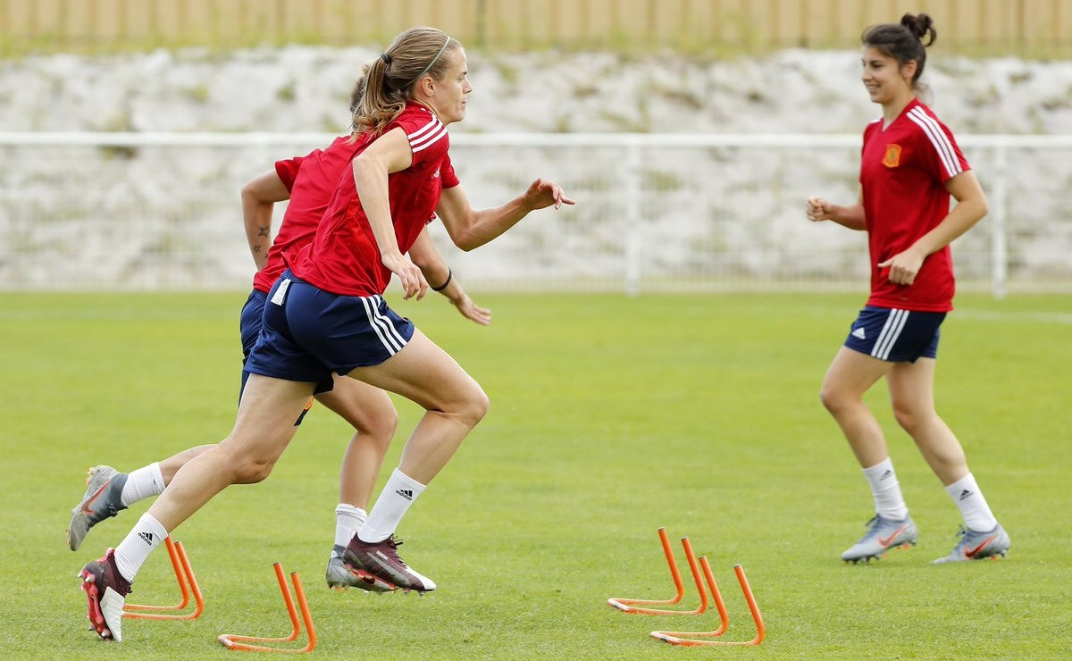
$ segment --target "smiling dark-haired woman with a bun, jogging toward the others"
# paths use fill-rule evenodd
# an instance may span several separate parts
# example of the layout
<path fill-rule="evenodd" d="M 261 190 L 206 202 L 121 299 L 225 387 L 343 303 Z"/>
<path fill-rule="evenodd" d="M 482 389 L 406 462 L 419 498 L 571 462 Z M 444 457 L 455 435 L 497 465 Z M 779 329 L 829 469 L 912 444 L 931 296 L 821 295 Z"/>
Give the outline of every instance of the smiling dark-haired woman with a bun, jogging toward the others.
<path fill-rule="evenodd" d="M 1010 546 L 959 441 L 934 405 L 938 327 L 953 309 L 949 244 L 986 215 L 986 198 L 953 134 L 917 97 L 926 46 L 935 36 L 926 14 L 906 14 L 900 24 L 864 31 L 863 84 L 882 106 L 882 117 L 864 130 L 860 197 L 845 207 L 822 197 L 807 200 L 809 220 L 865 229 L 870 249 L 870 297 L 821 393 L 875 497 L 867 532 L 842 554 L 851 562 L 917 540 L 882 431 L 863 403 L 864 392 L 883 376 L 897 422 L 964 516 L 958 543 L 935 561 L 1003 556 Z M 951 195 L 957 201 L 952 211 Z"/>

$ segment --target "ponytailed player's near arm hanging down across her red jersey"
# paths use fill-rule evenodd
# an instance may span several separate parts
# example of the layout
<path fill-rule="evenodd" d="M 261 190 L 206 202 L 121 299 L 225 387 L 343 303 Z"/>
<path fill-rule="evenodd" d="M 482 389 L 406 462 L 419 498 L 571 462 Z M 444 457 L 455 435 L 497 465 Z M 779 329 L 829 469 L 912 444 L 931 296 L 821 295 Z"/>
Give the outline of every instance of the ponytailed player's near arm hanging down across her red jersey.
<path fill-rule="evenodd" d="M 387 176 L 404 170 L 412 163 L 413 151 L 405 131 L 391 129 L 354 159 L 354 183 L 384 266 L 399 276 L 404 299 L 416 295 L 420 300 L 428 291 L 428 281 L 399 249 L 387 187 Z"/>

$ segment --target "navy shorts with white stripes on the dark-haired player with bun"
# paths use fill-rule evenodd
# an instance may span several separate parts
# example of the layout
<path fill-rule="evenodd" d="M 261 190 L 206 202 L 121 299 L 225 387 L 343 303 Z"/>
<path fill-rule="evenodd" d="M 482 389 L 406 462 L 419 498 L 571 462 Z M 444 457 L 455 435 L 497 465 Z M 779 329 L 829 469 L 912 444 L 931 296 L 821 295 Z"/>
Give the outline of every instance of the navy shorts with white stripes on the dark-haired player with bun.
<path fill-rule="evenodd" d="M 868 305 L 860 311 L 845 346 L 889 362 L 937 358 L 944 312 L 909 312 Z"/>

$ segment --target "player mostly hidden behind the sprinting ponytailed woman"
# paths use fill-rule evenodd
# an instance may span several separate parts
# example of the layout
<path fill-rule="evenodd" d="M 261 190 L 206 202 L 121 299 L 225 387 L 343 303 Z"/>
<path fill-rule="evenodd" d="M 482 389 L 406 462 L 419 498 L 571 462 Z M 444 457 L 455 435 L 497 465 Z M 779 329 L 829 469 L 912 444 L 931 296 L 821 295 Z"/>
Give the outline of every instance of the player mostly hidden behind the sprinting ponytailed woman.
<path fill-rule="evenodd" d="M 316 225 L 356 150 L 357 144 L 348 138 L 336 138 L 323 150 L 277 162 L 272 170 L 255 177 L 242 187 L 245 234 L 253 260 L 258 267 L 253 279 L 253 291 L 242 307 L 243 356 L 249 356 L 256 342 L 268 290 L 286 268 L 283 253 L 295 252 L 312 241 Z M 276 202 L 286 199 L 289 199 L 289 205 L 272 242 L 269 238 L 272 210 Z M 463 316 L 485 326 L 491 321 L 490 312 L 476 305 L 457 279 L 451 277 L 447 282 L 450 271 L 427 230 L 421 232 L 408 254 L 428 281 L 444 283 L 445 286 L 433 288 L 446 296 Z M 243 382 L 244 376 L 245 373 Z M 368 517 L 368 505 L 398 425 L 398 412 L 384 390 L 343 376 L 336 376 L 332 390 L 317 394 L 316 399 L 355 430 L 340 471 L 340 501 L 334 510 L 334 547 L 325 572 L 327 584 L 329 587 L 352 586 L 376 591 L 392 589 L 367 573 L 355 574 L 346 570 L 342 553 Z M 183 450 L 130 474 L 119 472 L 106 465 L 94 466 L 89 471 L 83 500 L 71 512 L 68 527 L 71 550 L 78 550 L 95 524 L 115 516 L 134 502 L 159 496 L 183 464 L 210 447 Z"/>

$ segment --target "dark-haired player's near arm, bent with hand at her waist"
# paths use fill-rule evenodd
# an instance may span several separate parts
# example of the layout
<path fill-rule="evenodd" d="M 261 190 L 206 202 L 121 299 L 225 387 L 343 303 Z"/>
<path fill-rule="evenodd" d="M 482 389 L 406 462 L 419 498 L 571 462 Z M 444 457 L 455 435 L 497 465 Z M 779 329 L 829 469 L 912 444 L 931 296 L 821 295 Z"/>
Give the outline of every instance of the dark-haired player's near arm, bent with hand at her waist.
<path fill-rule="evenodd" d="M 927 256 L 952 243 L 986 215 L 986 195 L 971 170 L 951 178 L 946 182 L 946 190 L 956 198 L 956 207 L 949 215 L 934 229 L 917 239 L 908 250 L 878 265 L 879 268 L 890 268 L 891 282 L 898 285 L 912 284 Z"/>

